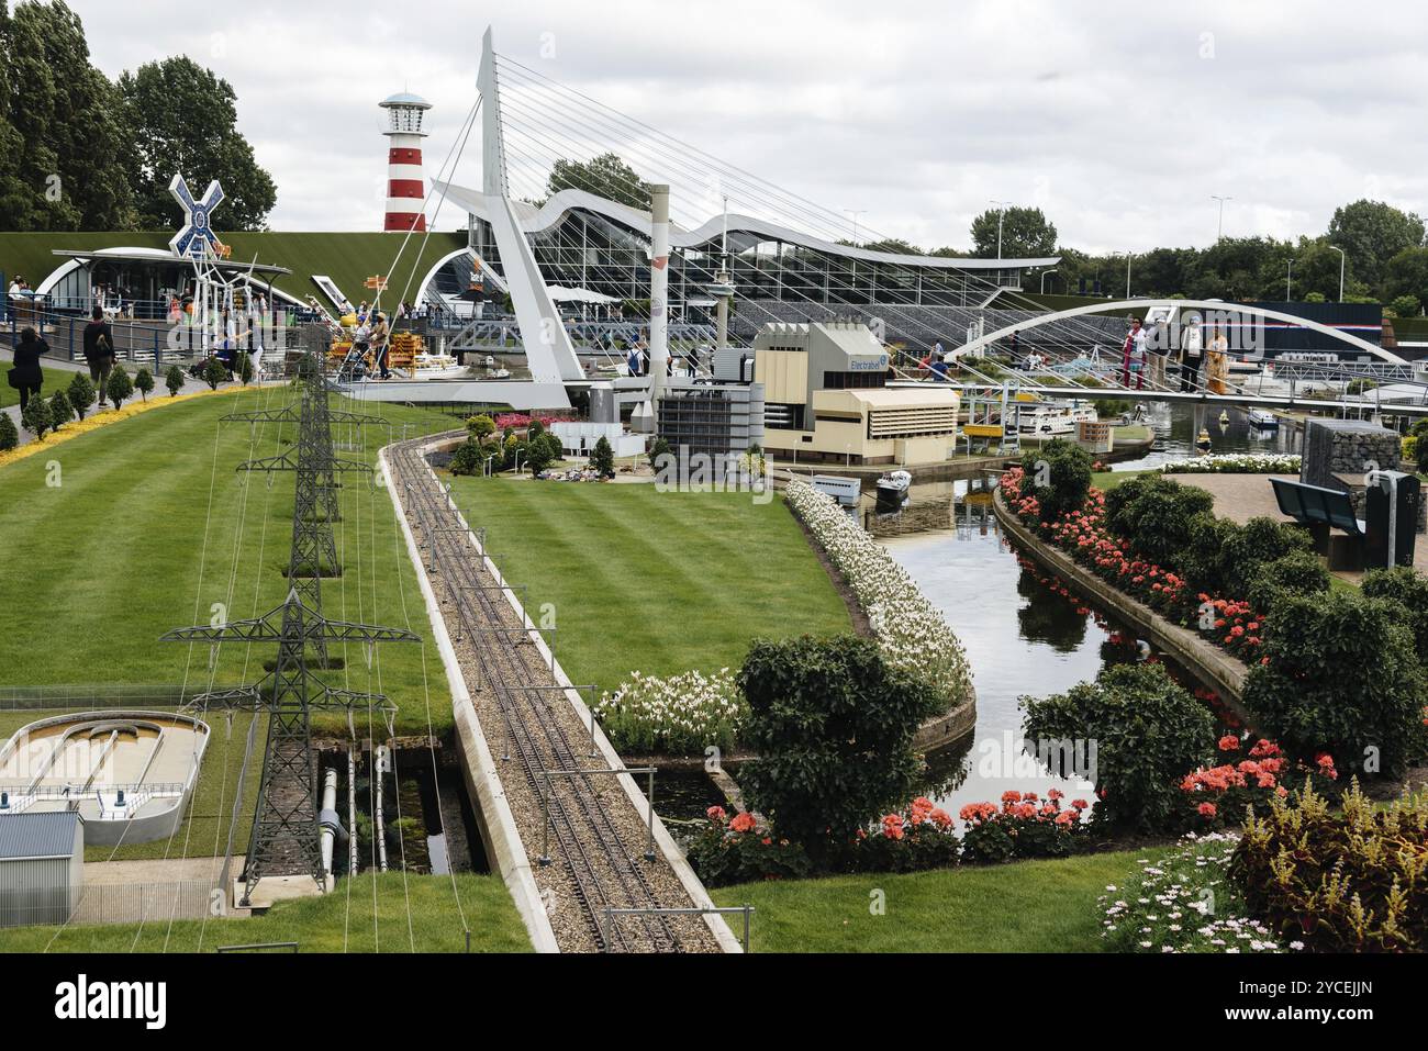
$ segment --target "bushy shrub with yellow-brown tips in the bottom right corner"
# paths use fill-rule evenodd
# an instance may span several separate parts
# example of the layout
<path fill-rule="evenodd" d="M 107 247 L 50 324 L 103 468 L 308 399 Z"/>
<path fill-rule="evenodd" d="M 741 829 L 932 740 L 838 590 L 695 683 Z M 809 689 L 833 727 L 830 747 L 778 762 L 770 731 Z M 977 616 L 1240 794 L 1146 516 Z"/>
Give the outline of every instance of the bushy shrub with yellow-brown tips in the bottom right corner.
<path fill-rule="evenodd" d="M 1428 951 L 1428 795 L 1342 808 L 1305 787 L 1245 825 L 1230 875 L 1254 915 L 1322 952 Z"/>

